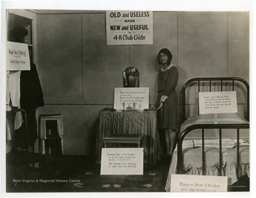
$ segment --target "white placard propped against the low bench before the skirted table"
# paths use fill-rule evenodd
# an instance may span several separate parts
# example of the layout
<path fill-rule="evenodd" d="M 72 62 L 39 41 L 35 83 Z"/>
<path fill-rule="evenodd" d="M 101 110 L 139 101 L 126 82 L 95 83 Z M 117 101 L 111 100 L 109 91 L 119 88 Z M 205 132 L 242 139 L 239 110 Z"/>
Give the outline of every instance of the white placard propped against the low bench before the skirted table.
<path fill-rule="evenodd" d="M 100 175 L 143 175 L 143 148 L 102 148 Z"/>

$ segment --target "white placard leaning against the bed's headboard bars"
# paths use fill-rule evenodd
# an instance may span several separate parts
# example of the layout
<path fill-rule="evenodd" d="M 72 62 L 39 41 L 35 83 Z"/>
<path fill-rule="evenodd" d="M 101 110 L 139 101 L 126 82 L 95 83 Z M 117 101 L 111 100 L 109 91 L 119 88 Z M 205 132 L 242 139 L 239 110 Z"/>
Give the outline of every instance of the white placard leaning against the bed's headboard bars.
<path fill-rule="evenodd" d="M 236 92 L 199 92 L 199 114 L 238 113 Z"/>

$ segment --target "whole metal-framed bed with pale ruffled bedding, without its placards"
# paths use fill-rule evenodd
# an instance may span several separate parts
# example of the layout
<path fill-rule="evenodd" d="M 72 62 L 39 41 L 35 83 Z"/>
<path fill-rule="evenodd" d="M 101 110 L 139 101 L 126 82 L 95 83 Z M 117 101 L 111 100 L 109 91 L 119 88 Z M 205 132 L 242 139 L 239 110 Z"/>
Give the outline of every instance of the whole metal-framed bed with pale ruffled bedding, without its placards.
<path fill-rule="evenodd" d="M 238 113 L 199 114 L 199 92 L 234 92 Z M 239 77 L 189 79 L 182 88 L 182 123 L 172 174 L 228 176 L 228 191 L 250 191 L 250 88 Z"/>

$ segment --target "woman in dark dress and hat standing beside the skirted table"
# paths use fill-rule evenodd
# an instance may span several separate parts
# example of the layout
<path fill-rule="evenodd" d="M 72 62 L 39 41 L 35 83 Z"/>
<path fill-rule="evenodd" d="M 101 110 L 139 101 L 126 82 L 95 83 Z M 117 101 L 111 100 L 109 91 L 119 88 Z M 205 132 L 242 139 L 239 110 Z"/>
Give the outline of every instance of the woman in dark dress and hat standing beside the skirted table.
<path fill-rule="evenodd" d="M 159 51 L 157 126 L 160 136 L 164 135 L 167 155 L 172 155 L 174 152 L 178 135 L 178 99 L 175 90 L 178 83 L 178 70 L 171 60 L 172 54 L 168 49 Z"/>

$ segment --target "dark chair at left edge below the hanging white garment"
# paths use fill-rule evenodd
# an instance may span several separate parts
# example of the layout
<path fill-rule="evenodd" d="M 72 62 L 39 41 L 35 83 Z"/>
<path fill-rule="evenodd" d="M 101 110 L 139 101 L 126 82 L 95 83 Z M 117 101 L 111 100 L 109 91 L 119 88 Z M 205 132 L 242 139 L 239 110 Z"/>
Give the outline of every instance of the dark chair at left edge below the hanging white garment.
<path fill-rule="evenodd" d="M 25 150 L 18 150 L 16 131 L 14 128 L 15 118 L 18 112 L 21 112 L 23 125 L 25 127 L 25 141 L 28 140 L 28 123 L 26 111 L 23 109 L 6 111 L 6 119 L 11 133 L 11 151 L 9 153 L 6 153 L 6 163 L 9 165 L 30 165 L 39 163 L 39 170 L 43 170 L 45 164 L 45 155 L 29 151 L 28 141 L 26 141 L 26 143 L 23 144 Z"/>

